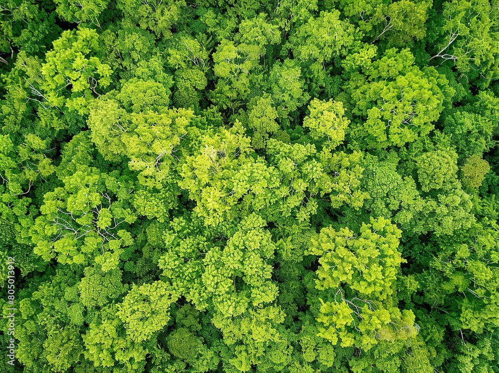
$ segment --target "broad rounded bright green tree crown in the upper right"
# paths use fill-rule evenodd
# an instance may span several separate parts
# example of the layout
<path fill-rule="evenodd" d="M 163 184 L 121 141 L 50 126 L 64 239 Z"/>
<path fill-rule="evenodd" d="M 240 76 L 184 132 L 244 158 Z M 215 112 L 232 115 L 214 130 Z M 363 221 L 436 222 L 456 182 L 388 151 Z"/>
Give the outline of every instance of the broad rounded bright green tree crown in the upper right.
<path fill-rule="evenodd" d="M 348 63 L 357 64 L 353 58 L 358 56 L 351 57 Z M 383 58 L 365 61 L 360 67 L 360 72 L 349 76 L 345 90 L 353 113 L 365 120 L 352 126 L 352 137 L 362 147 L 400 147 L 433 129 L 443 108 L 439 87 L 445 81 L 443 76 L 415 66 L 409 49 L 389 49 Z"/>

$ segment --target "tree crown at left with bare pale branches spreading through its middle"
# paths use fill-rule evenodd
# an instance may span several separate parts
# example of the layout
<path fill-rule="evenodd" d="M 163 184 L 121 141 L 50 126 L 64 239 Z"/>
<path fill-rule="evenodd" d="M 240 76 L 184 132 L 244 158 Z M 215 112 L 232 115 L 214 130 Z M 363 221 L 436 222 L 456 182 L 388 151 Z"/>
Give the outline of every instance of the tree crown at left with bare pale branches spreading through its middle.
<path fill-rule="evenodd" d="M 85 137 L 82 132 L 72 142 L 76 147 L 90 146 Z M 70 153 L 74 148 L 67 146 L 65 151 Z M 125 228 L 136 216 L 128 202 L 126 178 L 101 173 L 87 162 L 88 158 L 80 156 L 59 166 L 63 187 L 44 195 L 42 214 L 30 234 L 34 251 L 45 261 L 58 257 L 62 264 L 89 265 L 95 259 L 107 271 L 118 265 L 122 247 L 132 244 Z M 72 172 L 64 175 L 66 167 Z"/>

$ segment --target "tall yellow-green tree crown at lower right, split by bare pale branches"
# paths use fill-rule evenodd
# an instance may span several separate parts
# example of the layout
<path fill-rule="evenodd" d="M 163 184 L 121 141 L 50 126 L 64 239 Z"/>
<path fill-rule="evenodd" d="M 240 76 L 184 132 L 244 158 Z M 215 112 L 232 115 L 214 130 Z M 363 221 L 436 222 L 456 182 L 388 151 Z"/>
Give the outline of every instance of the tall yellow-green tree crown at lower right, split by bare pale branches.
<path fill-rule="evenodd" d="M 320 256 L 316 287 L 334 289 L 333 301 L 319 298 L 317 320 L 325 327 L 321 337 L 333 345 L 341 340 L 342 347 L 365 350 L 378 341 L 415 338 L 414 314 L 396 307 L 395 284 L 404 262 L 397 250 L 400 236 L 401 231 L 385 218 L 363 224 L 358 236 L 348 229 L 321 230 L 311 250 Z"/>

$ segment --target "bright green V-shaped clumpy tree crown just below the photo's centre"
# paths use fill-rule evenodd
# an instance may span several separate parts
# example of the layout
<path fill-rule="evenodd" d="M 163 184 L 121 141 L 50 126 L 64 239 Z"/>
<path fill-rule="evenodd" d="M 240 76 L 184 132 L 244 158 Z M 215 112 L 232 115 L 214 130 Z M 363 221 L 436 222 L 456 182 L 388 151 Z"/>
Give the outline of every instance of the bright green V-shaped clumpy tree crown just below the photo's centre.
<path fill-rule="evenodd" d="M 182 223 L 185 227 L 186 222 L 178 222 Z M 179 240 L 182 236 L 175 237 L 174 231 L 167 236 L 171 250 L 160 260 L 163 275 L 175 290 L 193 297 L 198 308 L 210 305 L 225 317 L 241 315 L 248 304 L 257 307 L 272 302 L 277 288 L 270 281 L 271 267 L 266 260 L 275 248 L 262 226 L 261 218 L 249 216 L 223 250 L 219 246 L 210 247 L 206 238 L 188 236 Z M 175 247 L 171 245 L 179 245 L 180 250 L 172 250 Z M 200 255 L 200 250 L 204 254 Z M 185 268 L 184 275 L 174 277 L 179 265 Z M 199 275 L 199 280 L 193 278 Z"/>

